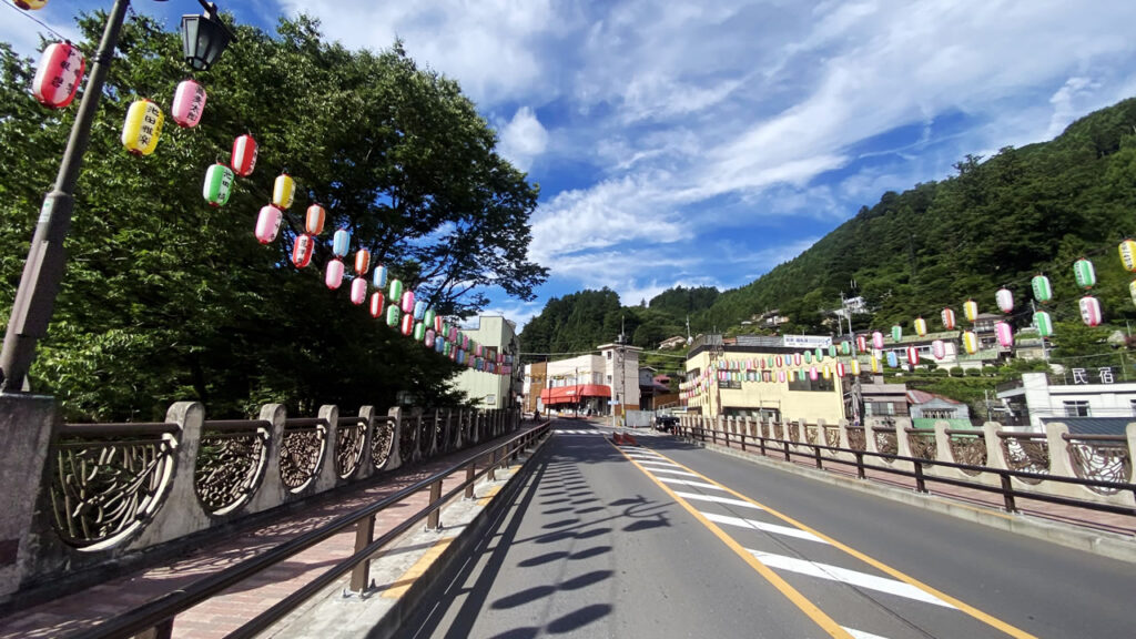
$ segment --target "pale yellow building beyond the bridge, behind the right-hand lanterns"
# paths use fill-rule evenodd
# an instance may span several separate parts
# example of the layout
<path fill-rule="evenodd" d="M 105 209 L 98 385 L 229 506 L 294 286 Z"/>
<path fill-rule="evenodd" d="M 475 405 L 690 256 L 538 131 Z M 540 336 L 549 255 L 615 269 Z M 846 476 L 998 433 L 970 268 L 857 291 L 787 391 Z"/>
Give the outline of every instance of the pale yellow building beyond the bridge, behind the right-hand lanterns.
<path fill-rule="evenodd" d="M 836 365 L 847 358 L 832 357 L 830 343 L 802 335 L 702 335 L 686 356 L 680 396 L 688 412 L 707 417 L 835 424 L 845 417 Z"/>

